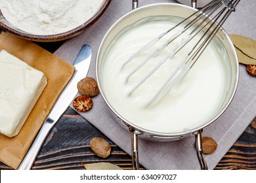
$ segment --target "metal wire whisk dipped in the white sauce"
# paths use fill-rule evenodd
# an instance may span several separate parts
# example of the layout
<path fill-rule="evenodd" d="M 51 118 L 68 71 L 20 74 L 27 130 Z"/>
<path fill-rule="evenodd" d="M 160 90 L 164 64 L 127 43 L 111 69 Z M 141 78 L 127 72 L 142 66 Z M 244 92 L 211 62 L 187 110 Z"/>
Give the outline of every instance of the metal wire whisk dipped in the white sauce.
<path fill-rule="evenodd" d="M 146 51 L 148 48 L 152 47 L 156 42 L 158 42 L 162 37 L 167 35 L 170 31 L 176 31 L 169 39 L 160 48 L 154 50 L 152 54 L 150 54 L 146 59 L 144 59 L 136 68 L 127 75 L 125 82 L 127 83 L 129 78 L 134 75 L 145 63 L 150 61 L 156 54 L 161 52 L 164 48 L 166 48 L 171 42 L 175 39 L 184 35 L 184 32 L 187 31 L 189 28 L 191 29 L 188 35 L 182 37 L 181 41 L 175 45 L 175 48 L 172 48 L 165 58 L 161 59 L 154 68 L 146 75 L 140 82 L 129 92 L 128 95 L 131 95 L 141 84 L 143 84 L 159 67 L 167 61 L 167 59 L 172 58 L 183 46 L 185 46 L 188 42 L 190 42 L 198 33 L 202 32 L 202 37 L 200 37 L 199 41 L 196 42 L 194 47 L 191 48 L 188 55 L 182 59 L 179 66 L 175 69 L 173 73 L 167 78 L 164 84 L 161 86 L 160 90 L 148 101 L 146 106 L 153 103 L 153 101 L 160 101 L 161 97 L 163 97 L 167 92 L 169 92 L 174 86 L 179 84 L 182 79 L 188 74 L 190 69 L 193 67 L 194 63 L 198 60 L 200 55 L 202 54 L 205 47 L 209 44 L 211 39 L 215 36 L 217 31 L 221 28 L 225 20 L 231 14 L 232 11 L 235 10 L 236 5 L 240 0 L 213 0 L 209 4 L 205 5 L 201 10 L 198 10 L 194 14 L 188 16 L 188 18 L 182 20 L 179 24 L 171 27 L 164 33 L 161 33 L 153 39 L 152 41 L 148 42 L 148 44 L 144 45 L 140 48 L 133 56 L 131 56 L 123 65 L 121 66 L 121 70 L 127 65 L 127 63 L 131 62 L 135 59 L 139 54 Z M 213 16 L 213 18 L 209 18 Z M 178 28 L 179 27 L 179 28 Z M 189 29 L 189 30 L 190 30 Z M 163 92 L 163 93 L 162 93 Z M 160 97 L 160 93 L 161 95 Z"/>

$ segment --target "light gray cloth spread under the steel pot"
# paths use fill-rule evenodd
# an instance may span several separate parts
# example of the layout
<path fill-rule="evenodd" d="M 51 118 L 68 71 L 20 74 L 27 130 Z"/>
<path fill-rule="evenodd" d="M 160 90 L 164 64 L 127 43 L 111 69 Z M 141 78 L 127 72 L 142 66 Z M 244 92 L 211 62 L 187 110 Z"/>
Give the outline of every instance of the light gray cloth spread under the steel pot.
<path fill-rule="evenodd" d="M 139 6 L 151 3 L 171 3 L 177 1 L 144 0 Z M 227 33 L 236 33 L 256 39 L 255 0 L 241 1 L 236 12 L 225 22 Z M 95 59 L 100 41 L 116 20 L 131 10 L 131 0 L 112 0 L 103 16 L 81 35 L 65 42 L 54 54 L 72 63 L 83 44 L 90 44 L 93 60 L 89 75 L 95 76 Z M 91 124 L 114 141 L 125 152 L 131 152 L 131 135 L 123 128 L 115 114 L 107 107 L 101 95 L 93 97 L 93 109 L 80 113 Z M 70 105 L 71 106 L 71 105 Z M 246 127 L 256 116 L 256 78 L 247 74 L 245 65 L 240 65 L 238 90 L 224 114 L 213 124 L 203 129 L 203 136 L 213 137 L 218 143 L 214 154 L 205 156 L 209 169 L 223 158 Z M 181 141 L 157 143 L 139 139 L 139 161 L 146 169 L 200 169 L 194 136 Z"/>

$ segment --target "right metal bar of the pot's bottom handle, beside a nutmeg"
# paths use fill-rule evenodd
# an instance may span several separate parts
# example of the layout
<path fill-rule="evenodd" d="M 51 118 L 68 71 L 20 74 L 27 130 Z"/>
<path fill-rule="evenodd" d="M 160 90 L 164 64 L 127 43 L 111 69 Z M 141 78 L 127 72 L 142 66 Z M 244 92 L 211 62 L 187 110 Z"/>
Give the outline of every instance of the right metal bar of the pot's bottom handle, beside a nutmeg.
<path fill-rule="evenodd" d="M 196 131 L 196 133 L 194 133 L 196 137 L 196 154 L 198 155 L 198 161 L 200 163 L 201 169 L 207 170 L 207 163 L 203 158 L 202 132 L 203 130 L 201 129 L 200 131 Z"/>

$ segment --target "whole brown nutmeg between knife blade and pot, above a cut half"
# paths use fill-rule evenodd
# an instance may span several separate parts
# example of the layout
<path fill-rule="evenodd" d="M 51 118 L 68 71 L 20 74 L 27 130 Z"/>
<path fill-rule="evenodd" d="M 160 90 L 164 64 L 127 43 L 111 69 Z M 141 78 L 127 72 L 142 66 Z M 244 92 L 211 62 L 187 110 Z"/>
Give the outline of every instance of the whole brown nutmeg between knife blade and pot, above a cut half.
<path fill-rule="evenodd" d="M 98 95 L 98 84 L 94 78 L 86 77 L 77 83 L 78 92 L 82 95 L 94 97 Z"/>

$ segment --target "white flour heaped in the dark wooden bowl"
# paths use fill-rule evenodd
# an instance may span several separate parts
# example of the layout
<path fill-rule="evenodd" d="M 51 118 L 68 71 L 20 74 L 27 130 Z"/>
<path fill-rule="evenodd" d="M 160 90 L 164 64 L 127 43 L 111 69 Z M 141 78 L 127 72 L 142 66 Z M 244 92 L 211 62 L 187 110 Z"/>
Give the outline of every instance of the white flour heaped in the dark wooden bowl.
<path fill-rule="evenodd" d="M 104 0 L 0 0 L 3 16 L 35 35 L 70 31 L 92 18 Z"/>

